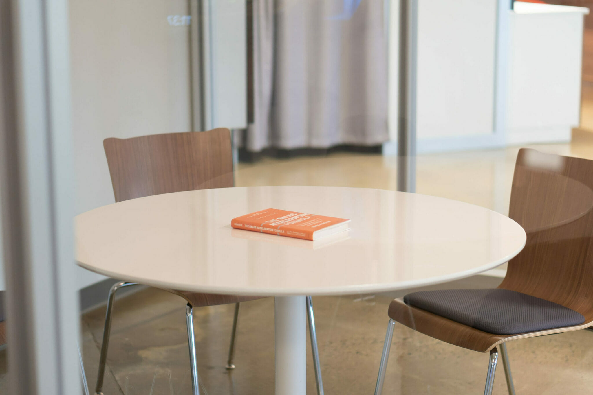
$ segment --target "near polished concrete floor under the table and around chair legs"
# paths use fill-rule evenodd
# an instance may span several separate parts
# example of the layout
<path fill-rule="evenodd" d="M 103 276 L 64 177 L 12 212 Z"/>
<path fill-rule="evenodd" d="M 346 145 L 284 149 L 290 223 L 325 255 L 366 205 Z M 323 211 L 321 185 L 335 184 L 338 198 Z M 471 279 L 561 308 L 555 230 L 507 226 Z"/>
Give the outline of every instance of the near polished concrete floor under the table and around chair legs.
<path fill-rule="evenodd" d="M 448 288 L 495 287 L 477 276 Z M 387 306 L 397 294 L 315 297 L 315 319 L 327 394 L 374 390 Z M 114 311 L 106 395 L 190 394 L 184 303 L 149 288 L 118 300 Z M 234 371 L 225 370 L 233 306 L 195 309 L 203 394 L 273 394 L 273 298 L 244 303 Z M 82 317 L 87 378 L 94 385 L 104 307 Z M 593 385 L 593 332 L 585 330 L 508 344 L 518 394 L 584 394 Z M 488 356 L 396 325 L 384 394 L 479 394 Z M 506 391 L 502 364 L 495 394 Z M 308 349 L 307 393 L 315 393 Z"/>

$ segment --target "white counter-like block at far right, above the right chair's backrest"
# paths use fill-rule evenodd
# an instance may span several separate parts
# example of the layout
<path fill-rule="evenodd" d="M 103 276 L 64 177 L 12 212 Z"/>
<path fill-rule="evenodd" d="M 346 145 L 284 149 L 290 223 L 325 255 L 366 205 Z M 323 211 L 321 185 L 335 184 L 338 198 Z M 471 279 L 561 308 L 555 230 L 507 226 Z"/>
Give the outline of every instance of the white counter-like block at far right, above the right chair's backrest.
<path fill-rule="evenodd" d="M 515 3 L 508 82 L 509 144 L 569 142 L 579 125 L 586 8 Z"/>

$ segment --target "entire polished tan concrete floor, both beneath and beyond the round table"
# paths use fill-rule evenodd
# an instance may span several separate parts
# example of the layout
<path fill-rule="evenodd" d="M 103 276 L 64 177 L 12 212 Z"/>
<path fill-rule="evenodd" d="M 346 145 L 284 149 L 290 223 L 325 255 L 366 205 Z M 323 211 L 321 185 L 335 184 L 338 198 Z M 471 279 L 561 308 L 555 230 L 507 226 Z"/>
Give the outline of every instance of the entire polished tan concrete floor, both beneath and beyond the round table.
<path fill-rule="evenodd" d="M 591 126 L 593 130 L 593 123 Z M 576 130 L 570 144 L 534 147 L 544 152 L 593 159 L 593 133 Z M 507 213 L 517 151 L 518 148 L 511 147 L 419 156 L 417 192 Z M 264 159 L 240 164 L 235 181 L 238 186 L 343 185 L 395 189 L 396 161 L 380 155 L 352 153 Z M 495 287 L 499 281 L 496 277 L 476 276 L 439 287 Z M 314 298 L 326 394 L 372 393 L 387 324 L 387 306 L 395 296 Z M 184 306 L 181 298 L 153 288 L 141 289 L 117 301 L 103 387 L 105 395 L 191 393 Z M 243 304 L 235 358 L 237 368 L 228 372 L 224 366 L 233 307 L 195 309 L 202 393 L 273 394 L 273 299 Z M 97 375 L 103 319 L 104 306 L 82 315 L 82 349 L 91 393 Z M 516 341 L 509 343 L 508 351 L 518 394 L 591 393 L 593 332 L 582 330 Z M 314 394 L 310 350 L 308 353 L 308 394 Z M 479 394 L 483 392 L 487 360 L 486 354 L 457 348 L 396 325 L 384 394 Z M 6 351 L 0 351 L 0 394 L 7 393 L 6 371 Z M 506 393 L 502 366 L 496 375 L 494 393 Z"/>

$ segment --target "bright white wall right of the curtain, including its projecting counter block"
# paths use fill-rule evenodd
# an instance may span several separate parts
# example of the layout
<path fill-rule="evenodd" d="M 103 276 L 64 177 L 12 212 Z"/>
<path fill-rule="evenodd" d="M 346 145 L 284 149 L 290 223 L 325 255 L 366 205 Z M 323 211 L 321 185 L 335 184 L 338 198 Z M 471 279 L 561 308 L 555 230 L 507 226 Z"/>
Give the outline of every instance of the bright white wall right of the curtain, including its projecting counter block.
<path fill-rule="evenodd" d="M 419 0 L 417 150 L 568 142 L 579 124 L 583 14 L 506 0 Z M 390 15 L 390 137 L 397 138 L 397 16 Z M 497 28 L 500 30 L 497 42 Z M 498 56 L 497 56 L 498 51 Z M 384 153 L 396 153 L 384 144 Z"/>

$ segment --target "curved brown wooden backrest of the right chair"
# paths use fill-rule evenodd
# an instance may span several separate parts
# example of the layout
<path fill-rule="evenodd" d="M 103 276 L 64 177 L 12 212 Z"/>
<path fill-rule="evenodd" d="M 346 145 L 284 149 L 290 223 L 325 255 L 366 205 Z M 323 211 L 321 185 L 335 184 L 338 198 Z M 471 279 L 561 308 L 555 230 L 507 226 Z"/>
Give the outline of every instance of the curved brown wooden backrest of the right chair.
<path fill-rule="evenodd" d="M 519 150 L 509 217 L 524 227 L 527 243 L 500 288 L 593 320 L 593 160 Z"/>

